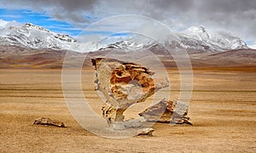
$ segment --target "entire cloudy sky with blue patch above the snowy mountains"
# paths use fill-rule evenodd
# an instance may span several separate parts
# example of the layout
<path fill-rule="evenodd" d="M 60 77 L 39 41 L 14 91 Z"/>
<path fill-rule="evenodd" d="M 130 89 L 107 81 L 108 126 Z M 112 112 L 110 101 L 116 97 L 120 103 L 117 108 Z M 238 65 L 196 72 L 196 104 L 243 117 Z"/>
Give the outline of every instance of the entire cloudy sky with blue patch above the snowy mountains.
<path fill-rule="evenodd" d="M 98 20 L 122 14 L 151 17 L 172 31 L 190 26 L 228 31 L 256 48 L 255 0 L 0 0 L 0 26 L 31 22 L 74 37 Z M 121 29 L 127 24 L 117 20 L 111 26 Z M 93 36 L 113 31 L 99 27 L 86 32 Z"/>

